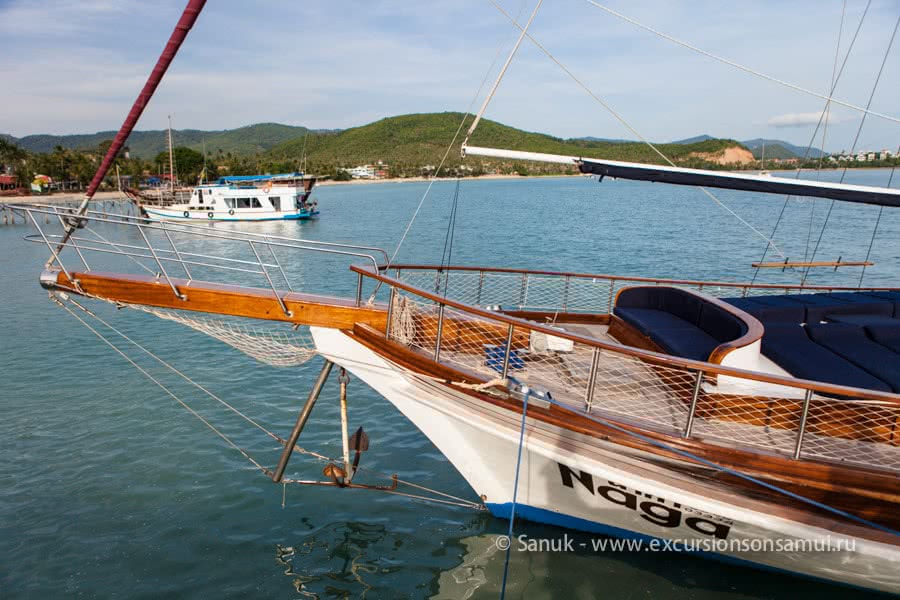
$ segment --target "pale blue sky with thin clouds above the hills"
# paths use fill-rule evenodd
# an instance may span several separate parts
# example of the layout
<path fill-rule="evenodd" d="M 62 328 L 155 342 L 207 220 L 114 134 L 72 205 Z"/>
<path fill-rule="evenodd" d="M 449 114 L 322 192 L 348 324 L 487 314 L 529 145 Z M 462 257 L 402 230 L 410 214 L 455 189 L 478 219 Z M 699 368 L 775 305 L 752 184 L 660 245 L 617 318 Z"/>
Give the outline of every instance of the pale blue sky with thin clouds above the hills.
<path fill-rule="evenodd" d="M 533 0 L 499 0 L 527 16 Z M 117 129 L 184 0 L 0 0 L 0 132 Z M 832 74 L 841 2 L 609 0 L 674 37 L 816 91 Z M 865 6 L 848 0 L 842 55 Z M 896 0 L 873 0 L 836 97 L 864 105 Z M 824 101 L 672 45 L 591 6 L 545 0 L 532 33 L 649 139 L 701 133 L 806 145 Z M 210 0 L 138 124 L 223 129 L 275 121 L 345 128 L 409 112 L 465 110 L 517 31 L 489 0 Z M 898 36 L 900 37 L 900 36 Z M 493 74 L 492 76 L 493 77 Z M 872 105 L 900 115 L 900 39 Z M 633 138 L 527 42 L 487 113 L 564 137 Z M 860 115 L 836 108 L 826 145 L 849 148 Z M 817 141 L 817 144 L 819 142 Z M 900 144 L 869 117 L 860 146 Z"/>

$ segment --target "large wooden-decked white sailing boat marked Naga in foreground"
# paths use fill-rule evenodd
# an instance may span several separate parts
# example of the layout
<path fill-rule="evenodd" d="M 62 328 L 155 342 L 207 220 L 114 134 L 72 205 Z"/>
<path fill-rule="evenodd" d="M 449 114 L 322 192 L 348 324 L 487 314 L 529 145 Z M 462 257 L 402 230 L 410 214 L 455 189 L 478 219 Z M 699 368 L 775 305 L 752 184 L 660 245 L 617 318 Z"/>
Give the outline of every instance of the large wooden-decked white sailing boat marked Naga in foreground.
<path fill-rule="evenodd" d="M 189 2 L 176 50 L 202 6 Z M 467 155 L 567 164 L 601 180 L 900 207 L 900 190 L 890 188 L 464 146 Z M 343 376 L 342 458 L 321 481 L 286 477 L 337 365 L 409 418 L 497 517 L 900 593 L 898 287 L 396 264 L 376 248 L 148 224 L 86 203 L 74 214 L 16 208 L 38 229 L 31 239 L 51 251 L 41 284 L 114 348 L 80 298 L 181 323 L 272 365 L 324 358 L 290 435 L 273 435 L 283 447 L 275 466 L 229 441 L 276 482 L 398 485 L 354 479 L 368 440 L 348 428 Z M 45 231 L 45 213 L 63 229 Z M 122 236 L 99 238 L 95 224 Z M 276 251 L 353 260 L 355 297 L 295 290 Z M 130 262 L 99 272 L 92 253 Z"/>

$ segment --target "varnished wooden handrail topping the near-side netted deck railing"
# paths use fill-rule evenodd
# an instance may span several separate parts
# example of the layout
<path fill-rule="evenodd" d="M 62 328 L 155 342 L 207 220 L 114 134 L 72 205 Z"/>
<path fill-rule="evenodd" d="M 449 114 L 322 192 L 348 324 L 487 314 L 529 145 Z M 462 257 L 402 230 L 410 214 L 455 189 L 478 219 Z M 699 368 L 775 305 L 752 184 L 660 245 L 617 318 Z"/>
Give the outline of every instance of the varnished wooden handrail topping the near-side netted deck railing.
<path fill-rule="evenodd" d="M 391 267 L 395 268 L 395 267 Z M 433 269 L 434 267 L 432 267 Z M 616 354 L 621 354 L 624 356 L 631 356 L 634 358 L 638 358 L 642 361 L 653 363 L 656 365 L 664 366 L 664 367 L 672 367 L 676 369 L 686 369 L 693 371 L 704 371 L 709 374 L 714 375 L 725 375 L 729 377 L 736 377 L 739 379 L 748 379 L 751 381 L 759 381 L 763 383 L 770 383 L 775 385 L 782 385 L 785 387 L 793 387 L 800 388 L 804 390 L 812 390 L 814 392 L 818 392 L 820 394 L 829 394 L 832 396 L 842 396 L 844 398 L 854 398 L 857 400 L 874 400 L 879 403 L 886 403 L 890 406 L 900 406 L 900 394 L 893 394 L 889 392 L 879 392 L 875 390 L 866 390 L 862 388 L 854 388 L 847 387 L 842 385 L 833 385 L 826 384 L 817 381 L 810 381 L 807 379 L 795 379 L 791 377 L 782 377 L 780 375 L 770 375 L 767 373 L 759 373 L 756 371 L 747 371 L 745 369 L 737 369 L 734 367 L 726 367 L 722 365 L 711 364 L 708 362 L 702 362 L 698 360 L 692 360 L 689 358 L 680 358 L 675 356 L 670 356 L 667 354 L 661 354 L 659 352 L 653 352 L 650 350 L 643 350 L 640 348 L 633 348 L 631 346 L 624 346 L 622 344 L 616 344 L 612 342 L 605 342 L 595 338 L 589 338 L 585 336 L 581 336 L 575 333 L 571 333 L 568 331 L 561 331 L 559 329 L 554 329 L 551 327 L 545 327 L 538 323 L 533 323 L 531 321 L 526 321 L 524 319 L 517 319 L 515 317 L 511 317 L 505 315 L 503 313 L 491 312 L 488 310 L 484 310 L 482 308 L 478 308 L 476 306 L 471 306 L 469 304 L 464 304 L 462 302 L 458 302 L 451 298 L 439 296 L 437 294 L 433 294 L 421 288 L 415 287 L 408 283 L 404 283 L 393 277 L 388 277 L 386 275 L 382 275 L 379 272 L 375 272 L 371 267 L 367 266 L 359 266 L 359 265 L 351 265 L 350 270 L 362 274 L 365 277 L 369 277 L 371 279 L 375 279 L 377 281 L 381 281 L 388 286 L 395 287 L 401 290 L 405 290 L 411 294 L 415 294 L 422 298 L 426 298 L 435 302 L 436 304 L 445 304 L 451 308 L 455 308 L 464 313 L 477 315 L 479 317 L 483 317 L 485 319 L 489 319 L 492 321 L 499 321 L 502 323 L 506 323 L 508 325 L 515 325 L 516 327 L 520 327 L 522 329 L 530 330 L 530 331 L 538 331 L 540 333 L 544 333 L 549 336 L 563 338 L 567 340 L 571 340 L 573 342 L 577 342 L 579 344 L 584 344 L 586 346 L 590 346 L 593 348 L 600 348 L 601 350 L 606 350 L 609 352 L 614 352 Z M 476 270 L 476 269 L 472 269 Z M 855 289 L 855 288 L 853 288 Z M 846 400 L 844 400 L 846 402 Z"/>

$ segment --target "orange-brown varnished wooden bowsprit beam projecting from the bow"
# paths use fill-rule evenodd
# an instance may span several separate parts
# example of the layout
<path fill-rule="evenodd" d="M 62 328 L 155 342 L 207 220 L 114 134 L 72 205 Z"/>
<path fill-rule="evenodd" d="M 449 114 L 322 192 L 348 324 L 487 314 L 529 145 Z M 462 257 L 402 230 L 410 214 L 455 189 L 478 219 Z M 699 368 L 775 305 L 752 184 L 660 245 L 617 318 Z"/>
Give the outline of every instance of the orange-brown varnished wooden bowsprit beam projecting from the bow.
<path fill-rule="evenodd" d="M 81 290 L 89 296 L 123 304 L 141 304 L 159 308 L 283 321 L 298 325 L 314 325 L 346 329 L 355 323 L 366 323 L 384 330 L 387 306 L 356 306 L 343 298 L 279 292 L 292 316 L 284 314 L 272 290 L 241 287 L 205 281 L 172 278 L 172 283 L 187 296 L 179 300 L 162 277 L 122 275 L 118 273 L 72 273 Z M 57 285 L 72 293 L 80 293 L 66 274 L 59 272 Z"/>

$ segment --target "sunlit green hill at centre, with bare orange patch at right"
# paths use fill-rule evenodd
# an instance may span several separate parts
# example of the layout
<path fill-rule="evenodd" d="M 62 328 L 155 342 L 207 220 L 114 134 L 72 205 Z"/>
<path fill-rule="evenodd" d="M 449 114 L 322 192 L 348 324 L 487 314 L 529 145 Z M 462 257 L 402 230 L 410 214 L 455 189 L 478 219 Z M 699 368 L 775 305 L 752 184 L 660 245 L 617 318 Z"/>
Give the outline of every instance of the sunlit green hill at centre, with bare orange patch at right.
<path fill-rule="evenodd" d="M 310 135 L 306 145 L 309 171 L 329 172 L 331 168 L 378 161 L 387 163 L 392 172 L 396 169 L 409 174 L 409 168 L 437 165 L 447 144 L 459 127 L 462 113 L 430 113 L 389 117 L 364 125 L 345 129 L 330 135 Z M 448 157 L 447 165 L 460 164 L 459 147 L 471 116 L 467 118 L 463 133 L 457 138 Z M 541 133 L 522 131 L 484 119 L 469 142 L 475 146 L 489 146 L 510 150 L 571 154 L 592 158 L 609 158 L 636 162 L 660 163 L 662 159 L 639 142 L 594 141 L 584 138 L 562 139 Z M 290 140 L 274 147 L 268 154 L 273 160 L 297 161 L 303 153 L 302 138 Z M 734 140 L 710 139 L 693 144 L 660 144 L 657 147 L 676 163 L 706 162 L 696 153 L 716 153 L 725 148 L 740 146 Z M 498 161 L 486 161 L 496 163 Z M 499 161 L 503 162 L 503 161 Z M 542 169 L 537 165 L 535 168 Z M 559 170 L 558 166 L 549 167 Z M 548 171 L 549 172 L 549 171 Z"/>

